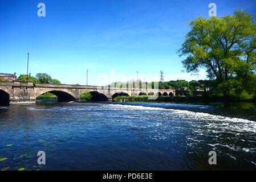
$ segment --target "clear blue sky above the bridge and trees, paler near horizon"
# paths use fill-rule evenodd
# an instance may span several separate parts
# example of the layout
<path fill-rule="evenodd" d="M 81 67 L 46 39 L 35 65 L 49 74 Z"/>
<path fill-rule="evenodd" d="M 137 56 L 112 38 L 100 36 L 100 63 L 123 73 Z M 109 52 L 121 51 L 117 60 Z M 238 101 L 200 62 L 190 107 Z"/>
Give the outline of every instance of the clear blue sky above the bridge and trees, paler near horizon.
<path fill-rule="evenodd" d="M 38 17 L 38 3 L 46 17 Z M 26 74 L 27 52 L 32 75 L 45 72 L 65 84 L 104 85 L 136 78 L 165 81 L 206 78 L 182 73 L 177 50 L 189 31 L 188 22 L 236 9 L 255 15 L 256 1 L 0 1 L 0 72 Z M 115 72 L 115 74 L 113 73 Z M 115 75 L 112 76 L 111 75 Z M 128 76 L 129 75 L 129 76 Z"/>

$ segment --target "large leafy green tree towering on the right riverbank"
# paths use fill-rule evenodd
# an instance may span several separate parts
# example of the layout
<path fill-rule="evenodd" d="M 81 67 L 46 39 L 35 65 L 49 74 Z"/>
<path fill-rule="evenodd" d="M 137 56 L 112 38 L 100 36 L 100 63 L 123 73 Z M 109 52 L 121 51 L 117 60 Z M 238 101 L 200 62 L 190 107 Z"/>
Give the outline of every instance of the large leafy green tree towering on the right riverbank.
<path fill-rule="evenodd" d="M 179 50 L 186 56 L 182 64 L 187 72 L 205 68 L 208 77 L 216 80 L 224 95 L 246 89 L 243 85 L 255 76 L 256 24 L 245 11 L 233 16 L 190 22 L 192 30 Z"/>

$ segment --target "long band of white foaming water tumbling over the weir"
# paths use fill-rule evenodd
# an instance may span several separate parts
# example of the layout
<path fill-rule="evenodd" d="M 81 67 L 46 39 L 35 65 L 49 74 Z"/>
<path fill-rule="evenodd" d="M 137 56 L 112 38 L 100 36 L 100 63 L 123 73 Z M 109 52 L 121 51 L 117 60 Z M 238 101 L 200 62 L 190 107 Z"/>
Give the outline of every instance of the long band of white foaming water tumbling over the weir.
<path fill-rule="evenodd" d="M 168 117 L 184 119 L 186 121 L 206 121 L 205 126 L 209 130 L 215 133 L 222 132 L 221 130 L 231 130 L 237 132 L 253 132 L 256 133 L 256 122 L 250 121 L 248 119 L 242 118 L 231 118 L 221 115 L 214 115 L 208 113 L 200 113 L 188 110 L 179 110 L 179 109 L 165 109 L 162 107 L 151 107 L 151 106 L 138 106 L 138 105 L 121 105 L 121 104 L 96 104 L 100 106 L 103 110 L 116 110 L 116 111 L 125 111 L 125 110 L 141 110 L 141 111 L 163 111 L 169 112 Z M 86 105 L 84 107 L 58 107 L 54 110 L 75 110 L 75 111 L 95 111 L 95 105 Z M 101 110 L 101 108 L 99 109 Z M 48 107 L 27 107 L 28 110 L 52 110 Z"/>

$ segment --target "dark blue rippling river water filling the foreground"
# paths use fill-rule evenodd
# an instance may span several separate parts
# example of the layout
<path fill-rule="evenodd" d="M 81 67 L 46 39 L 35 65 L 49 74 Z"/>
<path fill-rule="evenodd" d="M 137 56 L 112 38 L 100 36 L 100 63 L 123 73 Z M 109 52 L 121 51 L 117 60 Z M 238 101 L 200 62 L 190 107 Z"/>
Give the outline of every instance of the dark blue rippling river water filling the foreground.
<path fill-rule="evenodd" d="M 10 105 L 0 107 L 0 169 L 255 170 L 255 121 L 255 109 L 210 105 Z"/>

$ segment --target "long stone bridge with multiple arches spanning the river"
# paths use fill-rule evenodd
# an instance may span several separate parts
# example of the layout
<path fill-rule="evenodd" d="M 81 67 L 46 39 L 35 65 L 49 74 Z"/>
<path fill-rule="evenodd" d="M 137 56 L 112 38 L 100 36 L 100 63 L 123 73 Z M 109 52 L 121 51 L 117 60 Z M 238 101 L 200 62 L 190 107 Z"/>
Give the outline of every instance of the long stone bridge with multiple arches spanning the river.
<path fill-rule="evenodd" d="M 141 96 L 148 95 L 153 98 L 158 96 L 173 96 L 175 90 L 139 89 L 139 88 L 114 88 L 110 86 L 89 85 L 53 85 L 33 84 L 33 82 L 0 82 L 0 104 L 35 103 L 36 97 L 50 92 L 58 97 L 59 102 L 79 101 L 80 93 L 88 90 L 92 101 L 111 101 L 116 96 Z"/>

